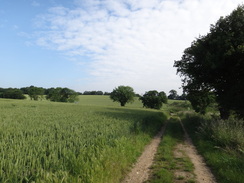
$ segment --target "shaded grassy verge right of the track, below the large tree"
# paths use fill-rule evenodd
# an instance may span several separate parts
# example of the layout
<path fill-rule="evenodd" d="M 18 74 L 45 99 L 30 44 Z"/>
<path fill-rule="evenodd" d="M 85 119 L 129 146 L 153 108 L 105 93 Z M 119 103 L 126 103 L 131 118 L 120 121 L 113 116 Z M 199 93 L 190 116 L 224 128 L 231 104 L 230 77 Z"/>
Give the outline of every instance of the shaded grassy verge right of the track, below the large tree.
<path fill-rule="evenodd" d="M 244 154 L 241 151 L 243 145 L 242 143 L 238 144 L 236 140 L 243 138 L 243 133 L 239 132 L 243 127 L 236 126 L 238 123 L 233 125 L 229 121 L 225 121 L 224 126 L 221 127 L 221 124 L 218 124 L 220 122 L 211 121 L 211 123 L 207 123 L 206 117 L 198 115 L 187 115 L 182 122 L 198 152 L 202 154 L 206 163 L 211 167 L 217 182 L 242 183 L 244 180 Z M 218 137 L 219 139 L 214 140 L 214 137 L 217 138 L 216 133 L 219 133 L 218 128 L 225 130 L 222 132 L 222 139 Z M 208 133 L 208 130 L 211 130 L 211 133 Z M 235 140 L 236 134 L 239 136 Z M 231 140 L 232 146 L 238 144 L 239 148 L 230 147 L 228 143 L 224 144 L 224 140 Z"/>

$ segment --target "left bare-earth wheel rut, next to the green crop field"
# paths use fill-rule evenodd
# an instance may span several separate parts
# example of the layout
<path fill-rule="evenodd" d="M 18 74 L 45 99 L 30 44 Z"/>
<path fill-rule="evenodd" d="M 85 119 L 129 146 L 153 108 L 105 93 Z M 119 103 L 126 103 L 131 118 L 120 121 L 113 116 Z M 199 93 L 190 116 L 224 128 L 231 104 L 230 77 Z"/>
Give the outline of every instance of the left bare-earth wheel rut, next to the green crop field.
<path fill-rule="evenodd" d="M 138 158 L 137 163 L 134 165 L 131 172 L 126 176 L 122 183 L 143 183 L 148 179 L 150 167 L 153 164 L 154 155 L 157 152 L 166 126 L 167 124 L 162 127 L 151 143 L 145 147 L 145 150 Z"/>

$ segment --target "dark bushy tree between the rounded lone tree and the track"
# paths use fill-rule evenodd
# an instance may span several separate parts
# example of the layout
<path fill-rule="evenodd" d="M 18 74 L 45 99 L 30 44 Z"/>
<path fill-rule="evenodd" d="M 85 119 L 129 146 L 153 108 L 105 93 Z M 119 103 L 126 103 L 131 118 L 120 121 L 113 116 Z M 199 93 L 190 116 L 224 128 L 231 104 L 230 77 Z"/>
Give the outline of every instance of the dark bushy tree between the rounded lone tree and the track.
<path fill-rule="evenodd" d="M 167 97 L 164 92 L 158 93 L 156 90 L 148 91 L 140 97 L 143 107 L 151 109 L 160 109 L 163 103 L 167 103 Z"/>

